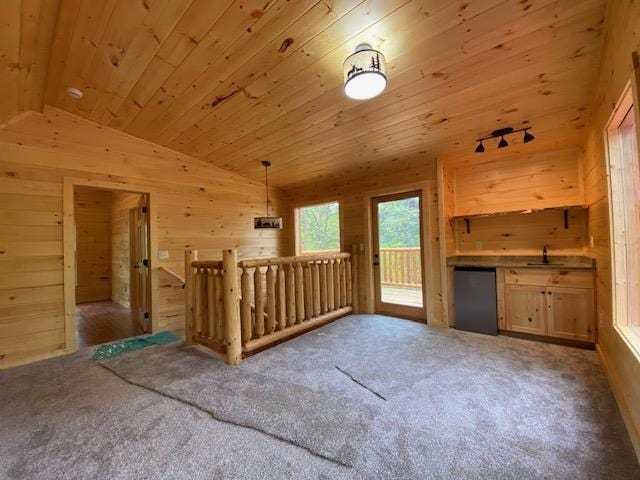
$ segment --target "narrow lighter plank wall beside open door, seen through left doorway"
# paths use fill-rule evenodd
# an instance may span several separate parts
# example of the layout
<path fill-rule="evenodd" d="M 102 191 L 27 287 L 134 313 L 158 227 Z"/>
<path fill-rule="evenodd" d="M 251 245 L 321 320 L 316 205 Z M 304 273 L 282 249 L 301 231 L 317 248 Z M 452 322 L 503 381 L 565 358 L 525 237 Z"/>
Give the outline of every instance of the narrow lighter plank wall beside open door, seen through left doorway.
<path fill-rule="evenodd" d="M 136 208 L 140 193 L 111 192 L 111 300 L 131 306 L 129 210 Z"/>

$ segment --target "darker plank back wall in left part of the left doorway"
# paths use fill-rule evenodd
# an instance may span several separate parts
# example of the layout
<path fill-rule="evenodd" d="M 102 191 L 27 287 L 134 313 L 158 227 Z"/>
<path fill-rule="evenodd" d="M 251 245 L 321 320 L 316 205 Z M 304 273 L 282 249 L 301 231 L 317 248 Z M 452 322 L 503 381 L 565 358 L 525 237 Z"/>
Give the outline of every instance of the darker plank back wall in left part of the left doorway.
<path fill-rule="evenodd" d="M 76 303 L 111 298 L 111 195 L 105 190 L 77 187 Z"/>

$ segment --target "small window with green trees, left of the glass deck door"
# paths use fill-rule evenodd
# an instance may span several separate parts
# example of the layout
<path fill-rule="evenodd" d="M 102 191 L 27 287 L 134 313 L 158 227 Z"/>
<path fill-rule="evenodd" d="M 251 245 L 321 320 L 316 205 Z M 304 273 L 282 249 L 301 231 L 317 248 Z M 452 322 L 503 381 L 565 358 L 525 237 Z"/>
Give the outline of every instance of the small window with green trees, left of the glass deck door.
<path fill-rule="evenodd" d="M 299 255 L 340 251 L 338 202 L 296 208 L 296 251 Z"/>

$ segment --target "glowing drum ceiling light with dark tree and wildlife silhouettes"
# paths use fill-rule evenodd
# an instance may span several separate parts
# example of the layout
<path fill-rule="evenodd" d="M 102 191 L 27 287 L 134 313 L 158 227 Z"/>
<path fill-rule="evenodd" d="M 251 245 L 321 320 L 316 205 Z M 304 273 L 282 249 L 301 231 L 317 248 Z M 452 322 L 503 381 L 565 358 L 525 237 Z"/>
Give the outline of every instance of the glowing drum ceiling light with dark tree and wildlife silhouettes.
<path fill-rule="evenodd" d="M 384 55 L 367 43 L 356 47 L 342 66 L 344 93 L 354 100 L 368 100 L 387 87 L 387 61 Z"/>

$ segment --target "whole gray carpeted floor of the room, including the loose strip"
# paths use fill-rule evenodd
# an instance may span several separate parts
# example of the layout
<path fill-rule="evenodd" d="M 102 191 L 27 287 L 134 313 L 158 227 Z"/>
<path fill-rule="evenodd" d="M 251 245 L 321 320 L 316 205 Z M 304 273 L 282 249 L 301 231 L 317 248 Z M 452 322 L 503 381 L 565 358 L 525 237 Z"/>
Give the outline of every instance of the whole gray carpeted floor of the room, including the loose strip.
<path fill-rule="evenodd" d="M 592 351 L 354 315 L 227 367 L 0 372 L 0 478 L 637 479 Z"/>

